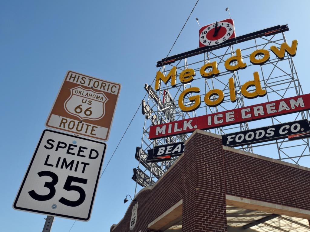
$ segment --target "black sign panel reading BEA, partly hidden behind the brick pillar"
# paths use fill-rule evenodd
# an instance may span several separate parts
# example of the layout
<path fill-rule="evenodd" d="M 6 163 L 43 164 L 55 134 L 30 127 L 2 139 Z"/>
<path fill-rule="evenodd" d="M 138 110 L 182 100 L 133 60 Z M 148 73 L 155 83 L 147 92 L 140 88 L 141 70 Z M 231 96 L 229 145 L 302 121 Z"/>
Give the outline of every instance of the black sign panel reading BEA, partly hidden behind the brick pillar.
<path fill-rule="evenodd" d="M 184 142 L 155 146 L 148 150 L 147 162 L 160 162 L 170 160 L 184 152 Z"/>

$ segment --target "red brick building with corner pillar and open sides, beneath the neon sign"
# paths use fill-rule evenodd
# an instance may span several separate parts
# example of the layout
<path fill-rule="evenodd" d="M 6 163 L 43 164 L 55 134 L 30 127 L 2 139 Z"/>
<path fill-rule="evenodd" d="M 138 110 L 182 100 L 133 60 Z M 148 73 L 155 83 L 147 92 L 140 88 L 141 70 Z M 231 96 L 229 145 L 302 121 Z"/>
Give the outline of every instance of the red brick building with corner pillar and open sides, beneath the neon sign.
<path fill-rule="evenodd" d="M 133 232 L 310 231 L 309 168 L 223 146 L 201 130 L 134 200 Z M 131 231 L 135 203 L 110 231 Z"/>

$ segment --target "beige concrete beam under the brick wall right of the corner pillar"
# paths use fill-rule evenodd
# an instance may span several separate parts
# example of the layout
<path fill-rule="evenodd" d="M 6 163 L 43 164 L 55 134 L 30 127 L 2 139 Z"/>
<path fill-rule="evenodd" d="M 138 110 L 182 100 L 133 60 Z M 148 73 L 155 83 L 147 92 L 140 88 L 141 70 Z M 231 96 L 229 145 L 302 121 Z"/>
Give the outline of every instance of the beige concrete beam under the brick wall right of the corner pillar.
<path fill-rule="evenodd" d="M 226 195 L 226 205 L 310 220 L 310 210 Z"/>

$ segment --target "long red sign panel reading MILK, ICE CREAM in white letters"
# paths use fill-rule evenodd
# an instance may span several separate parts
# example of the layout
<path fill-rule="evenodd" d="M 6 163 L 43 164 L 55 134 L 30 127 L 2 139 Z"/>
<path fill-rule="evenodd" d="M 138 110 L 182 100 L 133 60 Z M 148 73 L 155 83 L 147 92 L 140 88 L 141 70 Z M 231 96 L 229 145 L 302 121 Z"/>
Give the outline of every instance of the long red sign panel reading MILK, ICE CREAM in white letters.
<path fill-rule="evenodd" d="M 304 110 L 310 110 L 310 94 L 151 126 L 149 139 L 186 134 L 195 129 L 224 127 Z"/>

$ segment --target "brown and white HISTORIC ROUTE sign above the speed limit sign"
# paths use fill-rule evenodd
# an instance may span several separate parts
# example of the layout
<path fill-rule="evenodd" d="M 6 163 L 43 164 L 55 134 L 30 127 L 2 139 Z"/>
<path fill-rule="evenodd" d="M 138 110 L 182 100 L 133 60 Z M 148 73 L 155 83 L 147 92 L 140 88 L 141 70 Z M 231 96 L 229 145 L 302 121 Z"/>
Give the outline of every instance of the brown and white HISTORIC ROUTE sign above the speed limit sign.
<path fill-rule="evenodd" d="M 121 84 L 68 71 L 46 127 L 107 141 Z"/>

